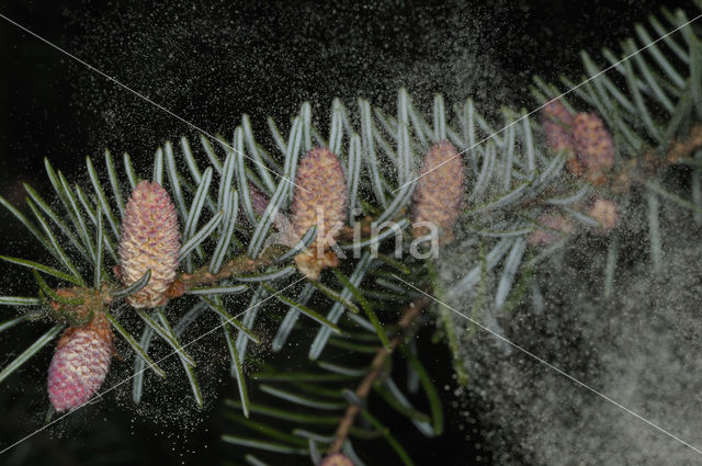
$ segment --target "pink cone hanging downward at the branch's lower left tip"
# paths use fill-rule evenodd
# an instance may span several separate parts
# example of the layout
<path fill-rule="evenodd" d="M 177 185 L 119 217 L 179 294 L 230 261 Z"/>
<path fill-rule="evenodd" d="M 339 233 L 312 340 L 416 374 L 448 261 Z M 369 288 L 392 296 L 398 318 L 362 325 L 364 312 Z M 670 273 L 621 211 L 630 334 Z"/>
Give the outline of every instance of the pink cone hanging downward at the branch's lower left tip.
<path fill-rule="evenodd" d="M 114 354 L 113 339 L 103 314 L 64 331 L 48 367 L 48 398 L 56 411 L 81 406 L 100 389 Z"/>

